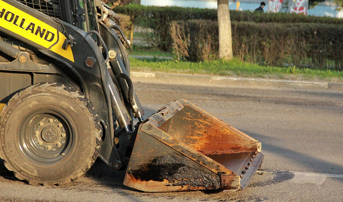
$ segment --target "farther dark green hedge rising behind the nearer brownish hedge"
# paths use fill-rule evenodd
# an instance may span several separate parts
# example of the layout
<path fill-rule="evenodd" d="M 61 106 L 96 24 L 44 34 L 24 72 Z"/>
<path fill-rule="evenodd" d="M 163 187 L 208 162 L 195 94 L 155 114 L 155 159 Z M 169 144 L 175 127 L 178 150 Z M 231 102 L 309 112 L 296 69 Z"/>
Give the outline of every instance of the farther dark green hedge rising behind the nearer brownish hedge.
<path fill-rule="evenodd" d="M 198 9 L 183 7 L 155 7 L 128 5 L 113 9 L 116 13 L 132 17 L 134 25 L 153 29 L 154 42 L 162 50 L 170 50 L 169 24 L 182 20 L 217 20 L 216 9 Z M 250 11 L 230 11 L 232 21 L 256 23 L 322 23 L 343 25 L 343 19 L 330 17 L 304 16 L 286 13 L 260 13 Z M 151 36 L 150 36 L 151 37 Z M 149 39 L 150 40 L 150 39 Z"/>

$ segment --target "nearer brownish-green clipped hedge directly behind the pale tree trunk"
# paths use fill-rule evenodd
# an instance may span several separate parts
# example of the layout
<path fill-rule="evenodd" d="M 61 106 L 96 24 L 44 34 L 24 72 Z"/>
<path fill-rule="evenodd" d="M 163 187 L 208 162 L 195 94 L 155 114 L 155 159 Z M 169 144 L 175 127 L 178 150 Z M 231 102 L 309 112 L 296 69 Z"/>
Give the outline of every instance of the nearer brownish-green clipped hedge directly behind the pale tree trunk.
<path fill-rule="evenodd" d="M 170 26 L 173 51 L 198 62 L 216 58 L 216 21 L 178 21 Z M 343 25 L 232 22 L 234 55 L 272 66 L 343 70 Z"/>

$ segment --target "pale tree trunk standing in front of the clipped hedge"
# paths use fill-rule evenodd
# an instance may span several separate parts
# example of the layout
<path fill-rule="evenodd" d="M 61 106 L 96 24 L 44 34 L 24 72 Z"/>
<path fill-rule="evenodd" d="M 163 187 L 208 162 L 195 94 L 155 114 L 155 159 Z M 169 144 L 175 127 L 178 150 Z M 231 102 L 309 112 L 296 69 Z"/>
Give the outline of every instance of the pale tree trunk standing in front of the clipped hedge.
<path fill-rule="evenodd" d="M 234 54 L 228 0 L 218 0 L 217 14 L 219 24 L 219 58 L 231 60 L 234 58 Z"/>

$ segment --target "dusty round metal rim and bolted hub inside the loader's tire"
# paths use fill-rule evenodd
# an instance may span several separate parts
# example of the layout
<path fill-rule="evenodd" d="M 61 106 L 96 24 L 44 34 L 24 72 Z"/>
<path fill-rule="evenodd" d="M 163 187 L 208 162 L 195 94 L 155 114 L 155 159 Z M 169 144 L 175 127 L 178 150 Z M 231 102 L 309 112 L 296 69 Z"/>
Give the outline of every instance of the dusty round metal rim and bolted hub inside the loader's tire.
<path fill-rule="evenodd" d="M 27 119 L 20 136 L 21 150 L 33 162 L 50 165 L 62 160 L 71 149 L 70 125 L 58 114 L 42 113 Z M 24 122 L 25 123 L 25 122 Z"/>

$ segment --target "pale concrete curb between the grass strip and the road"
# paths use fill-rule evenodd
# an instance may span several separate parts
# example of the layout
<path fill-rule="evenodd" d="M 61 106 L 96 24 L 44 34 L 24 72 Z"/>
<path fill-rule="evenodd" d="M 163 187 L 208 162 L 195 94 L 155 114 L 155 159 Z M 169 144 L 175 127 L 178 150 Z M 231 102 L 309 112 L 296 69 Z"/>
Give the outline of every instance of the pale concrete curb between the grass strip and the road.
<path fill-rule="evenodd" d="M 246 84 L 246 85 L 269 85 L 279 87 L 316 87 L 323 89 L 343 90 L 343 83 L 333 82 L 314 82 L 314 81 L 295 81 L 281 79 L 265 79 L 265 78 L 243 78 L 243 77 L 227 77 L 227 76 L 210 76 L 210 75 L 192 75 L 192 74 L 176 74 L 176 73 L 150 73 L 150 72 L 131 72 L 132 79 L 154 79 L 170 82 L 194 82 L 196 83 L 215 83 L 215 84 Z"/>

